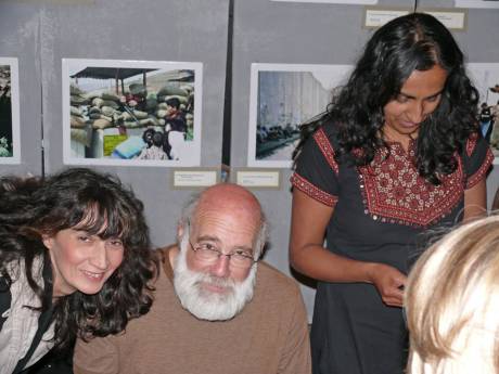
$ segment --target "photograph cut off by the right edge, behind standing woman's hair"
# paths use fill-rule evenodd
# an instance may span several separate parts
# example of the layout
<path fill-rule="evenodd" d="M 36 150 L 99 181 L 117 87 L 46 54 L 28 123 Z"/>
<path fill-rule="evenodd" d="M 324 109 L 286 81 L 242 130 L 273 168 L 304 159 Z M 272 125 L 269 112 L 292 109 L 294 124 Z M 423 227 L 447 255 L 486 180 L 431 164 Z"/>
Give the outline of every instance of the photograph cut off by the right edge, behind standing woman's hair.
<path fill-rule="evenodd" d="M 499 63 L 470 63 L 468 73 L 479 93 L 478 122 L 499 164 Z"/>

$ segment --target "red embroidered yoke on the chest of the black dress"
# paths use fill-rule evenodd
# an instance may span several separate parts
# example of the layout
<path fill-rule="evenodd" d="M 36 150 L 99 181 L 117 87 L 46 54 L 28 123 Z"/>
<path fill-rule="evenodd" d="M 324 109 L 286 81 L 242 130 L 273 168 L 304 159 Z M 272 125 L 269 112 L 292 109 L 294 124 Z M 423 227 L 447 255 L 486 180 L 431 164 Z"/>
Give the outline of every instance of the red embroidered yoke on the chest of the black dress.
<path fill-rule="evenodd" d="M 412 144 L 414 146 L 414 144 Z M 425 227 L 448 215 L 463 196 L 461 158 L 442 184 L 422 178 L 400 144 L 393 143 L 388 157 L 378 152 L 369 166 L 358 167 L 366 214 L 374 220 Z"/>

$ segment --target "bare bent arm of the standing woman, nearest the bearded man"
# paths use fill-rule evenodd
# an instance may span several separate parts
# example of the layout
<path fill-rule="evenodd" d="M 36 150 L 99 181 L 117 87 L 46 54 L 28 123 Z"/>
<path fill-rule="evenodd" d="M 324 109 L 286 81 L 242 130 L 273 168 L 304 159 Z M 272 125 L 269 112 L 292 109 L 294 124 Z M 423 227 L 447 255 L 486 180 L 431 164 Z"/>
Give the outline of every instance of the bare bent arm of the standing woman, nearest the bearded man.
<path fill-rule="evenodd" d="M 363 262 L 332 254 L 323 247 L 325 229 L 334 208 L 298 189 L 293 190 L 290 261 L 303 274 L 325 282 L 372 283 L 388 306 L 402 305 L 406 275 L 378 262 Z"/>

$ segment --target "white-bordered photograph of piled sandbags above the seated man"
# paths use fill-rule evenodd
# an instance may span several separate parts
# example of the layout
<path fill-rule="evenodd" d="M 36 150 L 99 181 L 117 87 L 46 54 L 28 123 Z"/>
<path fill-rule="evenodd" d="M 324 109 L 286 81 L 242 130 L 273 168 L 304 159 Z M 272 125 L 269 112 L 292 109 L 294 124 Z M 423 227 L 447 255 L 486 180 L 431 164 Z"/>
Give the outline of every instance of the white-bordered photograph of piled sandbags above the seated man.
<path fill-rule="evenodd" d="M 63 59 L 64 164 L 199 166 L 202 66 Z"/>

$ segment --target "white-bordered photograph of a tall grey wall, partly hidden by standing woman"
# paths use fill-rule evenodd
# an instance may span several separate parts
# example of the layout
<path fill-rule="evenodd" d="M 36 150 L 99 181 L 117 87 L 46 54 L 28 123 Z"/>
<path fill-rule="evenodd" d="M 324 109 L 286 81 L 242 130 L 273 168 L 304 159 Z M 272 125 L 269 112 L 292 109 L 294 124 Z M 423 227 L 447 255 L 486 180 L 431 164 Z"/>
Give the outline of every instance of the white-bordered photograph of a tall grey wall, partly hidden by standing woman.
<path fill-rule="evenodd" d="M 325 111 L 351 68 L 252 64 L 247 166 L 291 168 L 299 125 Z"/>

